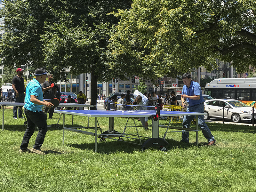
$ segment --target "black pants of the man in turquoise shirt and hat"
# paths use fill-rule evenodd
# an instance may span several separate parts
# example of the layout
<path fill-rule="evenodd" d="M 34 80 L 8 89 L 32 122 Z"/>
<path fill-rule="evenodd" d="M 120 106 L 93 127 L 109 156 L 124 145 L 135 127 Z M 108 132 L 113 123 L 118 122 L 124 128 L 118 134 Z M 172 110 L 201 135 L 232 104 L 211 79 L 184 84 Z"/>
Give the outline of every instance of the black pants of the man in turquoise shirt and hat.
<path fill-rule="evenodd" d="M 24 111 L 27 116 L 28 127 L 24 133 L 22 143 L 20 145 L 20 149 L 28 148 L 29 140 L 33 135 L 33 133 L 35 132 L 36 126 L 38 127 L 39 130 L 38 130 L 38 133 L 36 136 L 36 142 L 33 148 L 41 149 L 41 146 L 44 143 L 45 134 L 48 130 L 47 123 L 46 123 L 46 116 L 43 111 L 33 112 L 33 111 L 29 111 L 26 108 L 24 109 Z"/>

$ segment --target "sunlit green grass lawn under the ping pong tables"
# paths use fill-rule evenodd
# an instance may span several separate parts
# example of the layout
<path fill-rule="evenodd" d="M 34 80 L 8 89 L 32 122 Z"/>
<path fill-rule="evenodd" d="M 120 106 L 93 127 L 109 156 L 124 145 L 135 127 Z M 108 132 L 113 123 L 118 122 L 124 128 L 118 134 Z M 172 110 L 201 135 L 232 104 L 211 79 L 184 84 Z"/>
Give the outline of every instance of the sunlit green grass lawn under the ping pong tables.
<path fill-rule="evenodd" d="M 53 114 L 48 124 L 57 123 L 58 117 Z M 65 116 L 69 127 L 71 117 Z M 106 131 L 108 118 L 98 120 Z M 122 131 L 126 120 L 115 118 L 115 130 Z M 98 141 L 98 153 L 94 153 L 94 137 L 66 131 L 63 145 L 62 130 L 49 128 L 42 146 L 46 156 L 40 156 L 18 152 L 26 127 L 24 120 L 12 118 L 12 109 L 6 109 L 4 122 L 4 131 L 0 131 L 0 191 L 256 191 L 256 135 L 252 126 L 207 123 L 216 146 L 207 147 L 202 132 L 198 132 L 198 147 L 194 145 L 195 133 L 190 134 L 189 144 L 179 142 L 181 133 L 168 133 L 167 152 L 142 152 L 139 145 L 107 139 L 106 143 Z M 87 117 L 75 116 L 74 124 L 86 126 Z M 94 118 L 90 118 L 93 125 Z M 161 137 L 164 131 L 160 129 Z M 134 133 L 135 128 L 127 132 Z M 151 130 L 141 127 L 139 132 L 151 135 Z"/>

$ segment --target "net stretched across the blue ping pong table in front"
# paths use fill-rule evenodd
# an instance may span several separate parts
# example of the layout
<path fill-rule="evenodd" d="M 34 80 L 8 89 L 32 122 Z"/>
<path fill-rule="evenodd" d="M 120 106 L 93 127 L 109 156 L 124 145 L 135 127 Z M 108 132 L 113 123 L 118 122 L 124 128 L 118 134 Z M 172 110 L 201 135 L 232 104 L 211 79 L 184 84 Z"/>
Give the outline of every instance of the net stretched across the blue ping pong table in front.
<path fill-rule="evenodd" d="M 107 110 L 121 110 L 121 111 L 136 111 L 136 110 L 156 110 L 155 106 L 144 106 L 137 105 L 137 103 L 133 105 L 121 105 L 119 103 L 108 103 Z"/>

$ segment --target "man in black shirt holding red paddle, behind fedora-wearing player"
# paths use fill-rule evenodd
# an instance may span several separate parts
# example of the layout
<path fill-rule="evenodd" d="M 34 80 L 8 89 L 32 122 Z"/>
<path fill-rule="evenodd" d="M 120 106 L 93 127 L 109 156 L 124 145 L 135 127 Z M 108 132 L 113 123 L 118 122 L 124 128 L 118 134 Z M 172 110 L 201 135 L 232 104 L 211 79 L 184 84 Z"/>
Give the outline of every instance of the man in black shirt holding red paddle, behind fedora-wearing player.
<path fill-rule="evenodd" d="M 56 97 L 57 88 L 56 88 L 56 84 L 52 81 L 52 74 L 47 74 L 47 78 L 48 79 L 44 81 L 42 85 L 42 90 L 44 92 L 44 100 L 51 100 Z M 49 119 L 52 119 L 54 108 L 50 108 L 50 109 L 45 108 L 45 111 L 49 112 Z"/>

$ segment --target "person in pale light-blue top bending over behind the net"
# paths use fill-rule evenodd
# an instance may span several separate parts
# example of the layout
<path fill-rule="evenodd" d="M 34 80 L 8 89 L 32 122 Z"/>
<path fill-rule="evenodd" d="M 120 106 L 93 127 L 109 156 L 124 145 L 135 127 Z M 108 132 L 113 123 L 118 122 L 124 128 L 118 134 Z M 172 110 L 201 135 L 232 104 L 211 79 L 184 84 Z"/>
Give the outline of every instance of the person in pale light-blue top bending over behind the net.
<path fill-rule="evenodd" d="M 133 92 L 133 95 L 137 105 L 140 105 L 140 107 L 137 107 L 137 110 L 147 110 L 146 106 L 148 106 L 148 97 L 146 97 L 144 94 L 142 94 L 138 90 L 135 90 Z M 139 119 L 144 129 L 148 130 L 148 117 L 139 117 Z"/>

